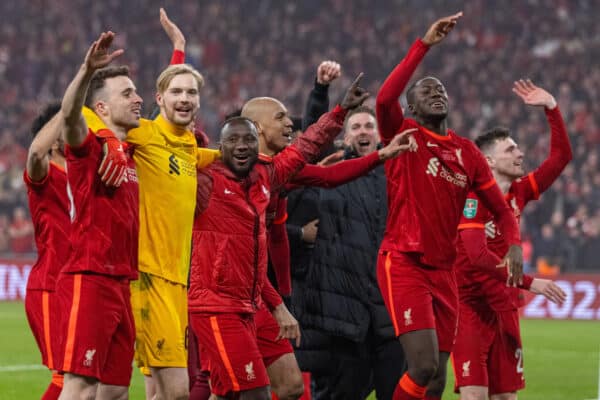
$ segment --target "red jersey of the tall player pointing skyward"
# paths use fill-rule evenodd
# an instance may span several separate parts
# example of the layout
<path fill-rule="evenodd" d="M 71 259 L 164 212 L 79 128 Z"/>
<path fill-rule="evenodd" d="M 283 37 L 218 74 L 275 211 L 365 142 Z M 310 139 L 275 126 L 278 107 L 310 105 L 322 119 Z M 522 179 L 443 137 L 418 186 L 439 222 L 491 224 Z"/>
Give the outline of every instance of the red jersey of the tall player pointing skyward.
<path fill-rule="evenodd" d="M 399 132 L 409 128 L 418 129 L 418 151 L 385 163 L 389 212 L 381 249 L 419 253 L 423 264 L 450 269 L 467 194 L 495 181 L 469 140 L 452 131 L 438 135 L 412 119 L 404 119 Z"/>

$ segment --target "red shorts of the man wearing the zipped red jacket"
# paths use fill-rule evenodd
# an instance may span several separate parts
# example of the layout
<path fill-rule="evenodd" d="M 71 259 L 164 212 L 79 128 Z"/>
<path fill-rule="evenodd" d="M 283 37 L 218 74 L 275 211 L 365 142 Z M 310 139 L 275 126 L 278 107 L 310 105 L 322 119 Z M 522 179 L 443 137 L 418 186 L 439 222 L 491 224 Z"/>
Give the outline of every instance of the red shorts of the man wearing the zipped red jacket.
<path fill-rule="evenodd" d="M 203 369 L 210 371 L 212 393 L 225 397 L 269 385 L 252 314 L 192 313 L 190 326 Z"/>

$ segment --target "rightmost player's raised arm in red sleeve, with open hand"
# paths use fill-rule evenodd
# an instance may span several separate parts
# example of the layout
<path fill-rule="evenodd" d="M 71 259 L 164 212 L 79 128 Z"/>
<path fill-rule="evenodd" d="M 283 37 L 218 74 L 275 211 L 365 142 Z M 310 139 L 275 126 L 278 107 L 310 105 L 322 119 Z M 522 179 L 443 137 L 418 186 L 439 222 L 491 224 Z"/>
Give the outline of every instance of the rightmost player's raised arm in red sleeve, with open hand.
<path fill-rule="evenodd" d="M 550 154 L 548 158 L 530 175 L 532 198 L 537 199 L 560 176 L 573 159 L 569 135 L 554 97 L 544 89 L 535 86 L 530 80 L 515 82 L 513 92 L 525 104 L 544 107 L 550 125 Z"/>

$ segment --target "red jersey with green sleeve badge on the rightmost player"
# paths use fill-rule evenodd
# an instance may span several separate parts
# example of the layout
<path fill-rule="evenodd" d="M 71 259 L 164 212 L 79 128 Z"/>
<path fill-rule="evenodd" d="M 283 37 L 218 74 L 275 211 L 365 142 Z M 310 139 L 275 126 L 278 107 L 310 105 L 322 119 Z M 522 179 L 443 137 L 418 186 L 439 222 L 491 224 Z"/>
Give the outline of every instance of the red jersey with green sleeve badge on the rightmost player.
<path fill-rule="evenodd" d="M 523 207 L 529 201 L 538 198 L 538 185 L 533 173 L 513 182 L 505 195 L 517 221 L 520 221 Z M 487 247 L 491 252 L 503 258 L 508 251 L 508 244 L 502 237 L 494 216 L 481 204 L 475 193 L 469 193 L 458 229 L 484 229 Z M 520 306 L 520 289 L 507 287 L 505 282 L 472 266 L 460 237 L 455 266 L 461 301 L 478 302 L 485 299 L 496 311 L 511 310 Z"/>

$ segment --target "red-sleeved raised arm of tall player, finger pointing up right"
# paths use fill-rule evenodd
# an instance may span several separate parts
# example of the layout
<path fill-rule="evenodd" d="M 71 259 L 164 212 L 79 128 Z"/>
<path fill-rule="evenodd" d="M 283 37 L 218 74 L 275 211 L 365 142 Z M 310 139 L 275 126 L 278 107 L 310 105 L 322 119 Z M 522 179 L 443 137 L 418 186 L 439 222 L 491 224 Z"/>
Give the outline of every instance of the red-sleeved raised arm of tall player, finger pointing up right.
<path fill-rule="evenodd" d="M 377 95 L 375 109 L 379 134 L 384 143 L 388 143 L 398 132 L 404 121 L 402 108 L 398 98 L 406 88 L 415 69 L 425 57 L 427 50 L 440 43 L 454 28 L 462 12 L 435 21 L 428 29 L 423 39 L 417 39 L 408 51 L 406 57 L 387 77 Z"/>

